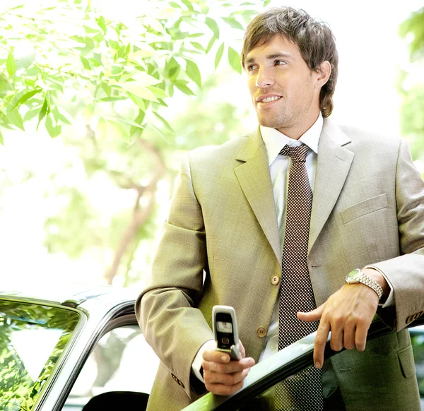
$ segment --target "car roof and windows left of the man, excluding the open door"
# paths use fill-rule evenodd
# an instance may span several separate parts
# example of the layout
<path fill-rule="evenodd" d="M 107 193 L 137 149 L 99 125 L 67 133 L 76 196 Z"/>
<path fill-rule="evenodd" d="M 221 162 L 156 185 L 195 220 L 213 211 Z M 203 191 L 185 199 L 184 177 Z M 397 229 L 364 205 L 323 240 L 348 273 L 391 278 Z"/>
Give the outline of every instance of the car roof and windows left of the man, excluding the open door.
<path fill-rule="evenodd" d="M 0 409 L 93 410 L 112 391 L 143 410 L 159 359 L 137 324 L 136 295 L 81 284 L 1 291 Z"/>

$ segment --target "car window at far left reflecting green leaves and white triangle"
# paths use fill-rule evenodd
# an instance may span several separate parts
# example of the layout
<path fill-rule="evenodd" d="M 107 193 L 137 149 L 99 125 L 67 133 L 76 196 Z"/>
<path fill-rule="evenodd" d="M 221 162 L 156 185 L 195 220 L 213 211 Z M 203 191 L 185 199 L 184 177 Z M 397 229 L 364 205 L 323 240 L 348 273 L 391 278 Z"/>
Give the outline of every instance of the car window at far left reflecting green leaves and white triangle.
<path fill-rule="evenodd" d="M 65 307 L 0 302 L 1 410 L 31 410 L 79 318 Z"/>

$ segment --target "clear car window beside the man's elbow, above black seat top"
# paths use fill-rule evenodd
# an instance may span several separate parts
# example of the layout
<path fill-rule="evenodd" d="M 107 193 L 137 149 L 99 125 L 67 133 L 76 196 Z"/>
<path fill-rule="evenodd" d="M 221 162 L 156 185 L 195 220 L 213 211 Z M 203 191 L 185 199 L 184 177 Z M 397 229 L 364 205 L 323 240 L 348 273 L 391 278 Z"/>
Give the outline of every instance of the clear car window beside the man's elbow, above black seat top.
<path fill-rule="evenodd" d="M 62 410 L 82 410 L 90 398 L 110 391 L 149 394 L 158 365 L 139 326 L 114 328 L 88 357 Z"/>

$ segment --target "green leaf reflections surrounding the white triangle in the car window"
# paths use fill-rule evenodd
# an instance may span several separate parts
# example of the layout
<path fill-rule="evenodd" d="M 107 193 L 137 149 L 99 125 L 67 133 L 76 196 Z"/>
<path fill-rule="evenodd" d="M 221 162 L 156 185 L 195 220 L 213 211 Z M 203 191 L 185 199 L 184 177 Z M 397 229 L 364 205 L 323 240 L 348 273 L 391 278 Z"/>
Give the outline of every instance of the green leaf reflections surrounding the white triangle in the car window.
<path fill-rule="evenodd" d="M 52 375 L 66 347 L 79 315 L 69 309 L 57 309 L 18 302 L 2 302 L 0 318 L 0 402 L 6 411 L 30 411 L 43 384 Z M 61 335 L 40 375 L 33 381 L 13 345 L 13 334 L 23 331 L 59 330 Z M 35 348 L 37 345 L 34 346 Z M 33 352 L 33 355 L 37 355 Z"/>

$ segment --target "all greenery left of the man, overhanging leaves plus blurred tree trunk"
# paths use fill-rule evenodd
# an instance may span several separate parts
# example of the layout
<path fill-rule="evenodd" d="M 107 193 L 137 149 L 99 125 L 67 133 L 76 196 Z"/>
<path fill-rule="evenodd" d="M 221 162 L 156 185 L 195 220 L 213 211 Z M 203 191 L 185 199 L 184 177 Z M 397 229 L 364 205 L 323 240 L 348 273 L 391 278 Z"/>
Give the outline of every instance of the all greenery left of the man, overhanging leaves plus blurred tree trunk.
<path fill-rule="evenodd" d="M 230 102 L 206 104 L 217 84 L 208 78 L 224 60 L 241 72 L 232 39 L 268 3 L 146 0 L 125 19 L 90 0 L 0 6 L 0 140 L 1 127 L 45 127 L 77 153 L 47 193 L 50 253 L 95 252 L 107 282 L 131 282 L 139 245 L 158 227 L 159 181 L 171 183 L 184 150 L 241 128 Z M 176 118 L 168 105 L 184 95 L 192 101 Z"/>

